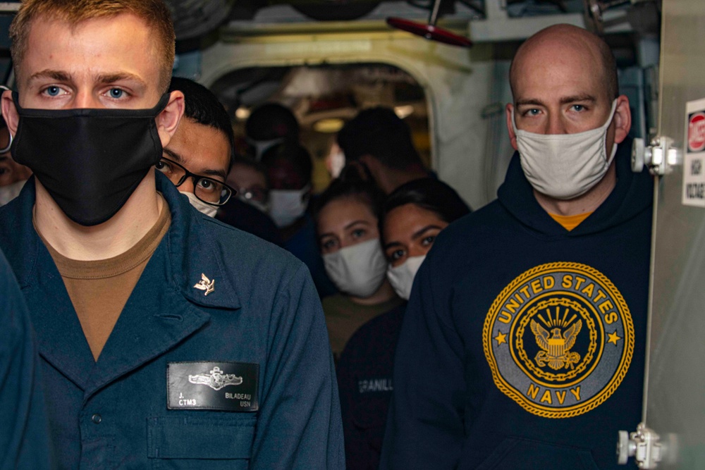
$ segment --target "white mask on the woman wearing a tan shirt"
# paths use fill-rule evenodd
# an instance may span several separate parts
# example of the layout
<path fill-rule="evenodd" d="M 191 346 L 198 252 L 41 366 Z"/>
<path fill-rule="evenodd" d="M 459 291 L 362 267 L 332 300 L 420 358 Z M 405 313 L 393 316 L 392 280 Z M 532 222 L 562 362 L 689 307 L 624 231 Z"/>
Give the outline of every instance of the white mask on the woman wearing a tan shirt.
<path fill-rule="evenodd" d="M 378 238 L 324 254 L 323 264 L 341 292 L 363 299 L 377 292 L 387 269 Z"/>

